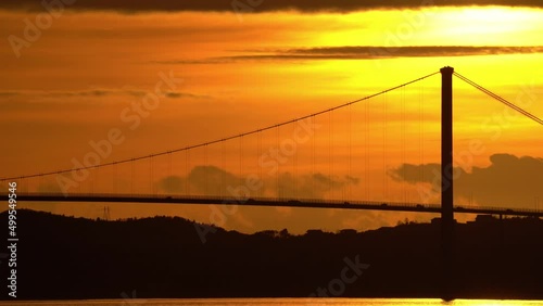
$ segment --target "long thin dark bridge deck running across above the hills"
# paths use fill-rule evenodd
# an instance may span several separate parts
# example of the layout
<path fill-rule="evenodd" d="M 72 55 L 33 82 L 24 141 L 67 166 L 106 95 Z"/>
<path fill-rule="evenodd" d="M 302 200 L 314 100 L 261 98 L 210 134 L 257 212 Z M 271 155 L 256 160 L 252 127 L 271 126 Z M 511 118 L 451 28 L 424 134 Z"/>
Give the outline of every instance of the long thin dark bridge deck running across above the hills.
<path fill-rule="evenodd" d="M 99 203 L 153 203 L 153 204 L 195 204 L 195 205 L 240 205 L 268 207 L 303 207 L 303 208 L 337 208 L 337 209 L 367 209 L 416 213 L 441 213 L 439 204 L 394 203 L 377 201 L 330 201 L 306 199 L 275 199 L 275 197 L 222 197 L 222 196 L 178 196 L 166 194 L 68 194 L 62 193 L 20 193 L 17 202 L 99 202 Z M 476 207 L 454 206 L 455 213 L 543 217 L 543 211 L 507 208 L 507 207 Z"/>

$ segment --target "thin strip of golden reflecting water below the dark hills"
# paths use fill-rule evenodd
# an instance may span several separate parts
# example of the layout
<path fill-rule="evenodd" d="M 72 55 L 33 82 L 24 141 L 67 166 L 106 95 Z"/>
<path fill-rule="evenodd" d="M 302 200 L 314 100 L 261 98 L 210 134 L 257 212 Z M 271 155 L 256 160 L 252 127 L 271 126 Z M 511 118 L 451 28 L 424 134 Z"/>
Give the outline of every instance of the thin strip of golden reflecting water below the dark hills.
<path fill-rule="evenodd" d="M 219 298 L 219 299 L 99 299 L 99 301 L 59 301 L 59 302 L 0 302 L 0 305 L 79 305 L 79 306 L 535 306 L 543 301 L 468 301 L 457 299 L 391 299 L 391 298 Z"/>

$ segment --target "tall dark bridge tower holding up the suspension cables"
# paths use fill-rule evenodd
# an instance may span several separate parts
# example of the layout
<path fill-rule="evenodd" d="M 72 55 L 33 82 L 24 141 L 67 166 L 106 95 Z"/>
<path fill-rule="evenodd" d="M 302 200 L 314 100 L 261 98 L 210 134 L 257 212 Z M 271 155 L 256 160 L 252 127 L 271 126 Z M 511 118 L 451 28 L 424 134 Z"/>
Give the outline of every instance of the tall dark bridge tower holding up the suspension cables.
<path fill-rule="evenodd" d="M 454 298 L 453 67 L 441 68 L 441 247 L 443 296 Z"/>

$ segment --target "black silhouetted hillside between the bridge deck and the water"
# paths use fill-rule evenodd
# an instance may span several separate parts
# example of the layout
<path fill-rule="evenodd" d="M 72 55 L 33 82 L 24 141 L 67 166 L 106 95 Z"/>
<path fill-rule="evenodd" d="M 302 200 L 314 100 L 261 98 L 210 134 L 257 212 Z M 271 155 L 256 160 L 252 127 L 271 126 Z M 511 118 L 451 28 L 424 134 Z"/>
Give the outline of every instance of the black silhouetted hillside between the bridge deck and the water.
<path fill-rule="evenodd" d="M 8 225 L 5 212 L 1 219 Z M 306 297 L 319 288 L 328 296 L 440 296 L 439 221 L 303 235 L 216 228 L 205 243 L 194 225 L 17 211 L 17 297 Z M 543 298 L 543 220 L 479 217 L 455 229 L 457 297 Z M 348 262 L 366 266 L 357 275 Z M 5 262 L 0 269 L 8 276 Z M 339 284 L 345 269 L 355 280 Z"/>

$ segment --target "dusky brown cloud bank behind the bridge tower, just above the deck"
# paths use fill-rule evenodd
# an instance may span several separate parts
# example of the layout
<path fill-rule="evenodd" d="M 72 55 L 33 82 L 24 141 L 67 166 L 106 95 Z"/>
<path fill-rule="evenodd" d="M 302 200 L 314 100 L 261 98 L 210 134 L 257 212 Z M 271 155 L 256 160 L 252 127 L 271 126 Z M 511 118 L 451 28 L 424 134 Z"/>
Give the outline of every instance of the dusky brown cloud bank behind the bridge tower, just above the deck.
<path fill-rule="evenodd" d="M 535 199 L 543 199 L 543 158 L 494 154 L 490 162 L 488 167 L 472 167 L 470 171 L 454 169 L 457 200 L 472 199 L 488 206 L 533 208 Z M 433 192 L 440 190 L 439 164 L 403 164 L 389 175 L 412 184 L 430 183 Z M 434 194 L 439 196 L 439 193 Z"/>

